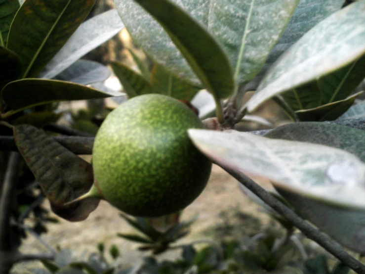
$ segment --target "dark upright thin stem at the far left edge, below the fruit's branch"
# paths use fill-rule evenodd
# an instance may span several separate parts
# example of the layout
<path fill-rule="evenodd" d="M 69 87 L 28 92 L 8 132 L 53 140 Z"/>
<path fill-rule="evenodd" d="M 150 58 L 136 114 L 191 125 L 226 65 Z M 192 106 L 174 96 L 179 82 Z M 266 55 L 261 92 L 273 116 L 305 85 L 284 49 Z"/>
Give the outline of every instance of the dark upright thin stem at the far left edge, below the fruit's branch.
<path fill-rule="evenodd" d="M 12 211 L 12 199 L 15 193 L 15 180 L 18 175 L 20 155 L 12 152 L 6 169 L 4 182 L 2 183 L 0 199 L 0 250 L 11 250 L 10 217 Z M 1 185 L 1 184 L 0 184 Z"/>

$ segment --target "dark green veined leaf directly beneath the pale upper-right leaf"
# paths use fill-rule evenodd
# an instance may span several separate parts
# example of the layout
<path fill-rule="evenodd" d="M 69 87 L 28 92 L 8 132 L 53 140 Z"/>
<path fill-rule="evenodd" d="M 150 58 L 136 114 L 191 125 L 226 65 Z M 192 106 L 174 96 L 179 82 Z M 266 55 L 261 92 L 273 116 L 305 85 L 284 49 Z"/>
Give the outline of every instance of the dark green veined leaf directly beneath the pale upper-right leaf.
<path fill-rule="evenodd" d="M 311 109 L 344 100 L 363 81 L 364 67 L 365 56 L 323 78 L 284 92 L 282 96 L 294 110 Z"/>

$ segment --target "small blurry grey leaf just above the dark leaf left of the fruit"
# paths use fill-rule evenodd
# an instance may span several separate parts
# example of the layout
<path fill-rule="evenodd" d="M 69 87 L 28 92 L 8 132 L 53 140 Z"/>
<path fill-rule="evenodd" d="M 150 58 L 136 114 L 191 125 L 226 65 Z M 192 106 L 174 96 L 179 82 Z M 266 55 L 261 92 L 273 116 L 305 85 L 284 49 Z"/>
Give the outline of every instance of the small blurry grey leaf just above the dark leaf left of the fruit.
<path fill-rule="evenodd" d="M 110 75 L 111 70 L 107 66 L 90 60 L 78 60 L 70 67 L 57 74 L 54 80 L 89 85 L 96 82 L 103 82 L 107 80 Z"/>

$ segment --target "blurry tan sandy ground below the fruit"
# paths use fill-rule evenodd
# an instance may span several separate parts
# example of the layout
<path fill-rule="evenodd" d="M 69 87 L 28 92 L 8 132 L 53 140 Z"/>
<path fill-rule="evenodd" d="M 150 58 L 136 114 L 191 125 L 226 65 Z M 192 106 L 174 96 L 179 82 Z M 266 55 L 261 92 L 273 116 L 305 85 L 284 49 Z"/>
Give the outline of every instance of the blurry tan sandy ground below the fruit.
<path fill-rule="evenodd" d="M 264 183 L 268 185 L 268 183 Z M 46 206 L 47 202 L 46 202 Z M 260 207 L 247 198 L 240 190 L 239 183 L 218 166 L 213 171 L 203 193 L 188 206 L 182 220 L 188 220 L 198 214 L 198 220 L 192 225 L 191 233 L 178 243 L 194 240 L 223 237 L 249 237 L 264 229 L 279 226 L 272 221 Z M 52 214 L 52 217 L 58 218 Z M 136 262 L 146 253 L 139 252 L 138 244 L 126 241 L 117 236 L 118 232 L 129 233 L 133 229 L 119 217 L 119 211 L 107 202 L 99 207 L 83 222 L 71 223 L 59 219 L 59 224 L 50 224 L 49 232 L 42 238 L 51 246 L 71 249 L 76 256 L 97 251 L 96 245 L 104 242 L 106 248 L 116 244 L 121 251 L 122 263 Z M 21 251 L 26 253 L 46 253 L 47 249 L 32 235 L 24 241 Z M 159 259 L 173 259 L 179 251 L 167 252 Z M 27 269 L 40 267 L 40 263 L 28 262 L 18 264 L 14 273 L 27 273 Z"/>

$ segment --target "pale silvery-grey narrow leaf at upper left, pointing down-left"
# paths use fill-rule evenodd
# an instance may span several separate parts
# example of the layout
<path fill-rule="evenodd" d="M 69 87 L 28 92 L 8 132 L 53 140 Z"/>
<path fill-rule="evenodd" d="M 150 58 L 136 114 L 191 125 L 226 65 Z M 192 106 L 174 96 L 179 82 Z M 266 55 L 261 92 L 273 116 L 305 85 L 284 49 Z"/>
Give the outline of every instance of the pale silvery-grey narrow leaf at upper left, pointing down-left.
<path fill-rule="evenodd" d="M 50 79 L 87 52 L 111 39 L 124 28 L 117 10 L 112 9 L 83 22 L 67 43 L 49 61 L 39 77 Z"/>

